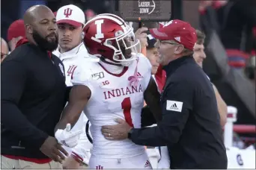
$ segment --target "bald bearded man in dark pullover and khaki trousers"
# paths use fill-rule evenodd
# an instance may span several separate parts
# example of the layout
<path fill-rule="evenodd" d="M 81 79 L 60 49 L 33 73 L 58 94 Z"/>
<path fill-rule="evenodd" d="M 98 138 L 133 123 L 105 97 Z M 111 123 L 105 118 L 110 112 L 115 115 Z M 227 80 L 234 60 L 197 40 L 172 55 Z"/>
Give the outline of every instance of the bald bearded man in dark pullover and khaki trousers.
<path fill-rule="evenodd" d="M 61 169 L 54 128 L 67 102 L 56 19 L 43 5 L 24 15 L 27 39 L 1 63 L 1 168 Z M 61 154 L 63 153 L 63 154 Z"/>

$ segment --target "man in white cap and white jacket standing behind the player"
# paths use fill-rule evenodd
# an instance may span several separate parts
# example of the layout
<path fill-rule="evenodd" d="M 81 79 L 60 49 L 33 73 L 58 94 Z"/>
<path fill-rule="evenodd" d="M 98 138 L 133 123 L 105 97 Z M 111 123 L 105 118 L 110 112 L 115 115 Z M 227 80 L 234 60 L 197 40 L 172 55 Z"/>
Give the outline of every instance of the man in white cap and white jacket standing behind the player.
<path fill-rule="evenodd" d="M 88 55 L 88 51 L 85 48 L 83 39 L 83 28 L 85 26 L 85 14 L 83 11 L 73 4 L 66 5 L 58 9 L 56 14 L 56 21 L 58 24 L 58 42 L 59 46 L 57 50 L 53 52 L 64 63 L 66 84 L 67 86 L 73 86 L 71 84 L 71 76 L 74 69 L 76 69 L 78 60 L 84 58 L 85 60 L 91 60 Z M 88 165 L 91 143 L 85 133 L 85 125 L 88 121 L 85 114 L 81 114 L 78 122 L 70 131 L 72 133 L 77 130 L 82 130 L 79 143 L 73 148 L 65 147 L 70 156 L 66 158 L 63 163 L 64 169 L 79 169 L 79 165 L 85 163 Z M 55 134 L 58 136 L 64 136 L 66 134 Z M 83 167 L 84 169 L 85 167 Z"/>

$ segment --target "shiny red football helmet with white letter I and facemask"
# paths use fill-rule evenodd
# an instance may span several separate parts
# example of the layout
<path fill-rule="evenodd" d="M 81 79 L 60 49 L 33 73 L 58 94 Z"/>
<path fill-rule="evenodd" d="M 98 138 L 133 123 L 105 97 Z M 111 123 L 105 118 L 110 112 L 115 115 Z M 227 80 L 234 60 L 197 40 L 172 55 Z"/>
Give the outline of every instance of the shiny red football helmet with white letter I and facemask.
<path fill-rule="evenodd" d="M 137 58 L 139 40 L 135 39 L 133 28 L 119 16 L 97 15 L 85 24 L 84 32 L 89 54 L 123 66 L 129 66 Z"/>

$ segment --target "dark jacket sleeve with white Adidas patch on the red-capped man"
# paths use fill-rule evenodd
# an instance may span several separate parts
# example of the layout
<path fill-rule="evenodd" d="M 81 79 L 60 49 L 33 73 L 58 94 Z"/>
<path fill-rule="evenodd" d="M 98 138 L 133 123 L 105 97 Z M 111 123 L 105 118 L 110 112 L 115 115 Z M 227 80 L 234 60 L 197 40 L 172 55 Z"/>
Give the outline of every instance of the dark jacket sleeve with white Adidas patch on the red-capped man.
<path fill-rule="evenodd" d="M 134 129 L 132 142 L 137 145 L 165 146 L 177 143 L 192 110 L 193 88 L 189 82 L 174 82 L 165 89 L 162 121 L 156 127 Z"/>

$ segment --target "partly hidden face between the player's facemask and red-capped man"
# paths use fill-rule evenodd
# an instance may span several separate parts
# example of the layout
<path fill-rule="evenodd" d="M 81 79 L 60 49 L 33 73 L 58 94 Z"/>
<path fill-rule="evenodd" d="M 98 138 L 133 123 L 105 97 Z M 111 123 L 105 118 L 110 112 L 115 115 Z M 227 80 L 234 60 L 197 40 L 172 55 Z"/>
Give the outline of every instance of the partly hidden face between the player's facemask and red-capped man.
<path fill-rule="evenodd" d="M 157 48 L 148 49 L 147 58 L 148 60 L 150 60 L 150 63 L 152 65 L 151 74 L 155 75 L 159 67 L 159 63 L 157 62 L 159 60 L 159 52 L 157 51 Z"/>

